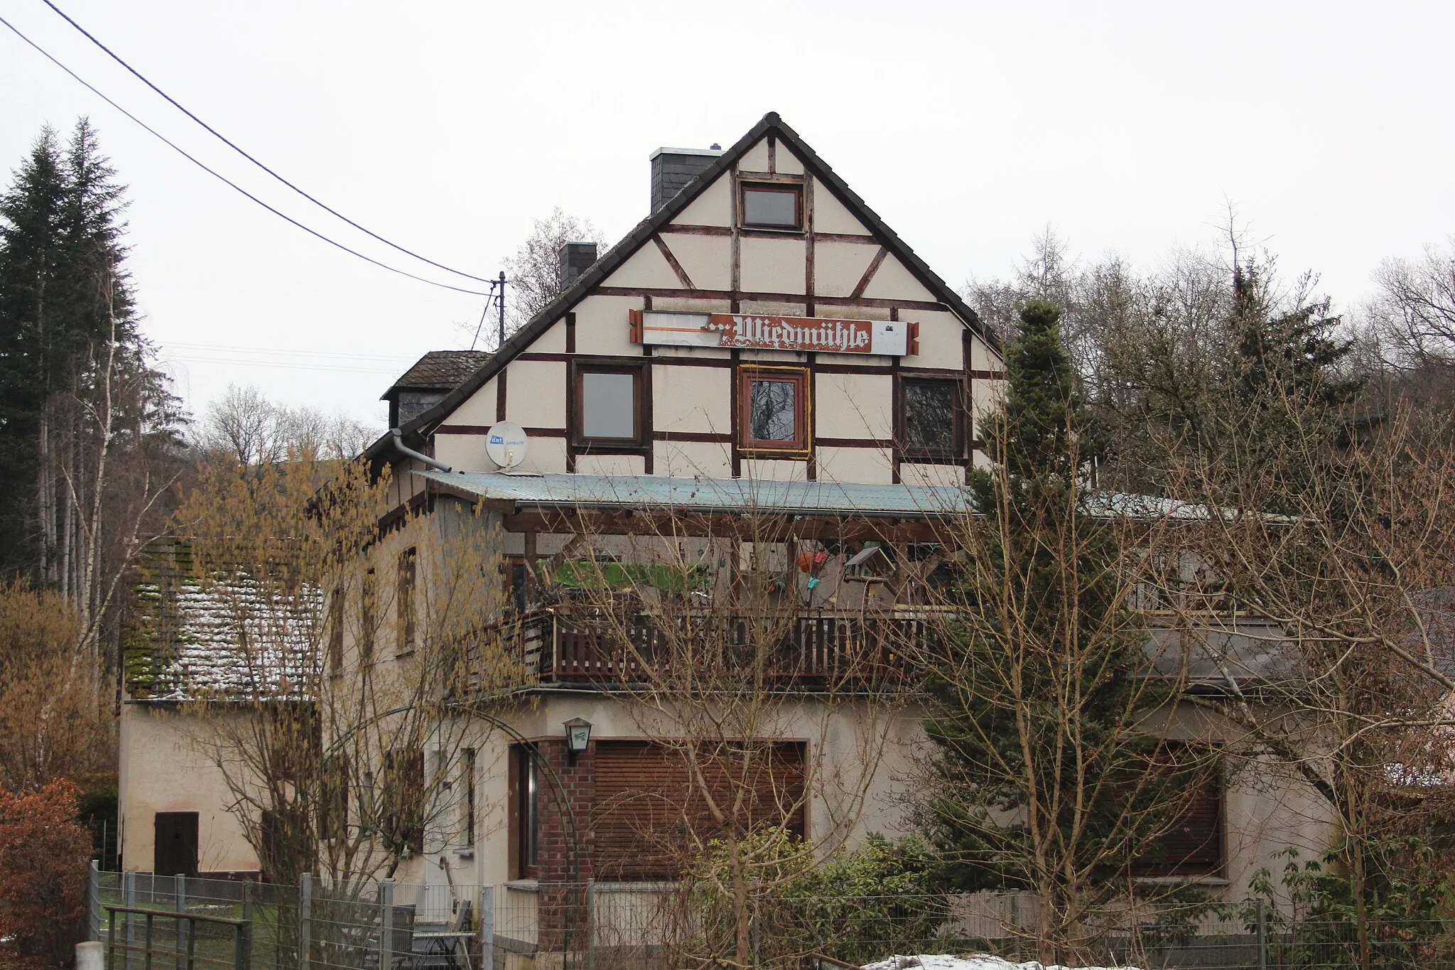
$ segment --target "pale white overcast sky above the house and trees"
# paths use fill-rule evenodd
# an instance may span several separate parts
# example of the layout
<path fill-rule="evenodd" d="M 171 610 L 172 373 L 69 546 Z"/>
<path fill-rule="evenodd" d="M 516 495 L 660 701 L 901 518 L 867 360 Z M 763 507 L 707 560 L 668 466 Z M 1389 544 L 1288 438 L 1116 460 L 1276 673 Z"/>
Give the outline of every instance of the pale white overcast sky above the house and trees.
<path fill-rule="evenodd" d="M 1048 224 L 1151 265 L 1216 244 L 1231 201 L 1283 272 L 1349 307 L 1381 259 L 1455 231 L 1449 3 L 57 3 L 301 188 L 479 276 L 557 205 L 618 239 L 646 215 L 653 148 L 729 145 L 768 111 L 956 285 L 1010 273 Z M 41 0 L 0 16 L 249 191 L 420 269 Z M 100 129 L 146 329 L 194 410 L 256 384 L 381 426 L 394 374 L 469 343 L 482 298 L 288 225 L 3 28 L 0 92 L 4 170 L 44 124 Z"/>

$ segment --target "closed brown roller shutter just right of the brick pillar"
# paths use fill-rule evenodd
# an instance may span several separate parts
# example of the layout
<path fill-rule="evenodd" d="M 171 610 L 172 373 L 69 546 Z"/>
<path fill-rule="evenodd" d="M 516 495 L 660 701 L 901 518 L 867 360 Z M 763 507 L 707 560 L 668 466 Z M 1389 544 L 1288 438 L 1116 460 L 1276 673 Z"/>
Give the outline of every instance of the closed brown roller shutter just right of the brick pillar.
<path fill-rule="evenodd" d="M 714 801 L 745 794 L 744 830 L 787 826 L 806 836 L 803 745 L 784 742 L 752 752 L 714 756 L 703 750 L 703 774 Z M 698 841 L 720 835 L 700 785 L 690 782 L 681 750 L 652 742 L 595 743 L 597 804 L 591 827 L 599 880 L 675 878 Z"/>

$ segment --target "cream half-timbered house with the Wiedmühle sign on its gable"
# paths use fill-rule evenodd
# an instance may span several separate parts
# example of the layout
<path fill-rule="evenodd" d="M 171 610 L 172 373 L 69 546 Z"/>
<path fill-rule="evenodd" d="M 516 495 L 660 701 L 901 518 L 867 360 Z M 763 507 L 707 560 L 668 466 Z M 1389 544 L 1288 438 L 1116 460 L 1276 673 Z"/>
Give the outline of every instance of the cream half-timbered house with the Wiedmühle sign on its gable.
<path fill-rule="evenodd" d="M 480 641 L 511 638 L 518 662 L 515 707 L 490 708 L 501 730 L 435 753 L 457 766 L 460 817 L 425 835 L 400 878 L 534 891 L 669 874 L 637 838 L 637 809 L 620 809 L 669 790 L 661 745 L 617 689 L 610 637 L 563 602 L 585 573 L 602 582 L 604 564 L 691 608 L 745 563 L 776 563 L 797 611 L 770 785 L 792 795 L 783 822 L 810 841 L 835 825 L 847 839 L 909 827 L 912 708 L 876 727 L 847 823 L 842 793 L 809 794 L 809 775 L 863 759 L 856 718 L 873 692 L 857 708 L 825 702 L 844 644 L 888 656 L 892 637 L 925 630 L 915 590 L 933 582 L 936 516 L 963 512 L 966 471 L 985 461 L 997 336 L 776 113 L 726 150 L 661 148 L 649 188 L 649 215 L 620 243 L 562 250 L 560 295 L 498 350 L 426 355 L 386 393 L 391 428 L 365 458 L 390 468 L 377 551 L 402 572 L 378 583 L 412 602 L 420 529 L 485 528 L 506 595 Z M 508 441 L 512 425 L 524 441 Z M 492 429 L 496 457 L 511 452 L 499 464 Z M 659 582 L 652 550 L 700 564 L 701 586 Z M 631 622 L 661 633 L 646 606 Z M 407 657 L 413 627 L 397 625 L 393 656 Z M 348 675 L 358 650 L 343 653 Z M 1243 891 L 1318 814 L 1296 791 L 1211 793 L 1167 877 Z"/>

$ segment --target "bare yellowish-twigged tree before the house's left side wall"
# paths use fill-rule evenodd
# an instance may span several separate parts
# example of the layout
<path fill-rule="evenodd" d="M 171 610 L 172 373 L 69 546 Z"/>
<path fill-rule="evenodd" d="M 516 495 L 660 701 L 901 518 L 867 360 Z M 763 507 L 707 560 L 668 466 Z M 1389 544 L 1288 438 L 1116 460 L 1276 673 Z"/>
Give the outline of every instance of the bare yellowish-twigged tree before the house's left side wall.
<path fill-rule="evenodd" d="M 183 705 L 276 881 L 394 875 L 460 823 L 451 782 L 485 734 L 451 702 L 499 570 L 469 509 L 381 532 L 388 487 L 359 462 L 224 455 L 150 561 L 131 692 Z M 476 650 L 469 675 L 489 695 L 512 669 Z"/>

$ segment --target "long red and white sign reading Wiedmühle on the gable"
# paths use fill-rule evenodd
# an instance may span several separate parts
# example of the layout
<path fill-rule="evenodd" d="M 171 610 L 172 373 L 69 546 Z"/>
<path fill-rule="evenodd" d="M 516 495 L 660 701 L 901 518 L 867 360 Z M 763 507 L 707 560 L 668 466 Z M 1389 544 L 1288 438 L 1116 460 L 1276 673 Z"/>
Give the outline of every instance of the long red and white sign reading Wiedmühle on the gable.
<path fill-rule="evenodd" d="M 631 311 L 631 340 L 658 346 L 906 356 L 918 349 L 914 346 L 918 329 L 918 324 L 898 320 Z"/>

